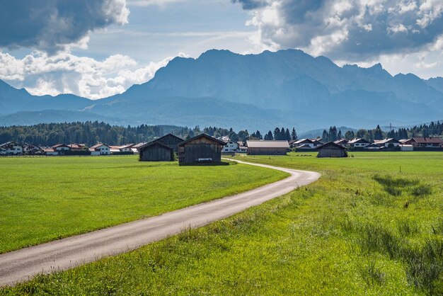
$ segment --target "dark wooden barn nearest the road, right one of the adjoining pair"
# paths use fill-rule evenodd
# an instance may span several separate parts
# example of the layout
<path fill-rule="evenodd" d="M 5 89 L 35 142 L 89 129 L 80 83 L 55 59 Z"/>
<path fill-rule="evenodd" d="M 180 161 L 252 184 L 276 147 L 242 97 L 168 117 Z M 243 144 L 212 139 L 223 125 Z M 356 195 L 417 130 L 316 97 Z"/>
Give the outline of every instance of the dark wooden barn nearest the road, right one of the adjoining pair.
<path fill-rule="evenodd" d="M 226 143 L 202 134 L 178 144 L 178 164 L 221 162 L 222 149 Z"/>

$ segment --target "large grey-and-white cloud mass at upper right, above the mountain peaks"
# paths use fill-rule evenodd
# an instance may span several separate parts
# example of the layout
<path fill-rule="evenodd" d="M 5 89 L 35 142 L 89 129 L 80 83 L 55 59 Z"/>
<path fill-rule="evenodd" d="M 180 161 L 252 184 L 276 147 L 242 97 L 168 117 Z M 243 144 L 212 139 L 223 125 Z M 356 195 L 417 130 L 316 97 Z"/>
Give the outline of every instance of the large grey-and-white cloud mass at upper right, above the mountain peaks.
<path fill-rule="evenodd" d="M 441 42 L 441 0 L 231 0 L 251 11 L 255 40 L 272 50 L 301 48 L 361 60 L 418 52 Z"/>

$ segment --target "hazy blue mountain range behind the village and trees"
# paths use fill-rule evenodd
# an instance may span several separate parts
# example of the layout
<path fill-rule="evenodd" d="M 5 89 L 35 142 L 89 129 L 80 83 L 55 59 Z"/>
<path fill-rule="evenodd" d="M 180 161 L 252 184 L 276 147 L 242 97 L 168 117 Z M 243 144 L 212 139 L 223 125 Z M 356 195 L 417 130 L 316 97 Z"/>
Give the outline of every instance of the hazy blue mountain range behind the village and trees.
<path fill-rule="evenodd" d="M 443 78 L 392 76 L 381 64 L 339 67 L 301 50 L 176 57 L 150 81 L 108 98 L 33 96 L 0 81 L 0 125 L 100 120 L 300 131 L 409 125 L 443 118 Z"/>

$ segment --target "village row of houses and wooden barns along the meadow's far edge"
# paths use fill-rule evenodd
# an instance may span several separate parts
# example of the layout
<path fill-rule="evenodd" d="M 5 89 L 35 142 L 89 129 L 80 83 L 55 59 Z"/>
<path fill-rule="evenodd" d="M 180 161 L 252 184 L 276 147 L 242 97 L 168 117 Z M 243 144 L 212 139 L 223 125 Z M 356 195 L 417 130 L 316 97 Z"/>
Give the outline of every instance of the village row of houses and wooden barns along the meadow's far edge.
<path fill-rule="evenodd" d="M 39 147 L 34 144 L 6 142 L 0 144 L 0 156 L 106 156 L 139 154 L 140 161 L 175 161 L 179 164 L 220 162 L 222 154 L 286 155 L 288 152 L 318 152 L 317 157 L 347 157 L 347 152 L 413 152 L 443 151 L 441 137 L 393 138 L 368 141 L 362 138 L 321 142 L 317 139 L 246 140 L 211 137 L 202 133 L 188 140 L 172 135 L 158 137 L 151 142 L 120 146 L 98 143 L 56 144 Z"/>

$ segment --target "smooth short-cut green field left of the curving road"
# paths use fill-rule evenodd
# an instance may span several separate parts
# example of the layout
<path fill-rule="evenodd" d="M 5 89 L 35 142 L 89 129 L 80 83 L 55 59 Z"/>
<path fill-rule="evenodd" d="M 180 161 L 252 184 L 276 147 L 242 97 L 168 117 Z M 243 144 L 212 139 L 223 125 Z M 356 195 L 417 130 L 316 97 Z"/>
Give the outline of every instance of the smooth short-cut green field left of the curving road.
<path fill-rule="evenodd" d="M 159 215 L 272 183 L 285 173 L 178 166 L 136 156 L 0 158 L 0 253 Z"/>

